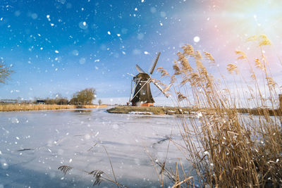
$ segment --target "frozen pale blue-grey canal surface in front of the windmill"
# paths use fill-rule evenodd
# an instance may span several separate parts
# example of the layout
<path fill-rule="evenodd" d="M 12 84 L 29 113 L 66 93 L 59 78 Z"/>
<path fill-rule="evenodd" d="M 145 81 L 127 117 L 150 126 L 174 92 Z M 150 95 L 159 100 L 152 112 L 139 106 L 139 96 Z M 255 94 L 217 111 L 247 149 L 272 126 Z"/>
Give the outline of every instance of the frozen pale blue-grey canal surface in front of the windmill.
<path fill-rule="evenodd" d="M 167 138 L 179 141 L 178 132 L 173 116 L 111 114 L 105 109 L 0 112 L 0 187 L 92 187 L 94 178 L 83 170 L 99 169 L 113 177 L 104 147 L 118 182 L 159 187 L 145 150 L 163 160 Z M 179 157 L 170 144 L 167 165 L 175 165 Z M 61 165 L 73 170 L 64 176 Z"/>

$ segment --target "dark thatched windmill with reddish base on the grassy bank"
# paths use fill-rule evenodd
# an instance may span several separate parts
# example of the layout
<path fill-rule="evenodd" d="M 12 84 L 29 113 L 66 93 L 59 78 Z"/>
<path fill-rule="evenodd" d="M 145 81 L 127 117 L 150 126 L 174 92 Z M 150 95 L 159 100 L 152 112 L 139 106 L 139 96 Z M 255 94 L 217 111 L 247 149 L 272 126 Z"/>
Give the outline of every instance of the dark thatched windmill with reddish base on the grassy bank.
<path fill-rule="evenodd" d="M 154 68 L 157 65 L 160 55 L 161 52 L 157 54 L 157 58 L 154 61 L 152 68 L 150 68 L 149 74 L 145 73 L 139 65 L 136 65 L 136 69 L 139 73 L 133 76 L 133 80 L 131 82 L 129 102 L 132 106 L 154 106 L 154 99 L 150 89 L 151 82 L 164 94 L 164 96 L 169 96 L 169 94 L 167 94 L 166 91 L 159 86 L 158 82 L 152 79 L 152 74 L 154 73 Z"/>

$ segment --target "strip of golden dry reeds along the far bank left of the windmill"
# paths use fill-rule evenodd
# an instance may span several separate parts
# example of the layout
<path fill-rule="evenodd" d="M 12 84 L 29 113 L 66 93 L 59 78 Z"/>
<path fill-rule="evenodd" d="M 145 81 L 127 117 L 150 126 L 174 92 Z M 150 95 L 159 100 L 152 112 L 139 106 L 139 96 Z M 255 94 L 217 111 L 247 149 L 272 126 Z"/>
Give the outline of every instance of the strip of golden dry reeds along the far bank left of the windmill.
<path fill-rule="evenodd" d="M 0 104 L 0 111 L 42 111 L 75 108 L 106 108 L 107 105 Z"/>

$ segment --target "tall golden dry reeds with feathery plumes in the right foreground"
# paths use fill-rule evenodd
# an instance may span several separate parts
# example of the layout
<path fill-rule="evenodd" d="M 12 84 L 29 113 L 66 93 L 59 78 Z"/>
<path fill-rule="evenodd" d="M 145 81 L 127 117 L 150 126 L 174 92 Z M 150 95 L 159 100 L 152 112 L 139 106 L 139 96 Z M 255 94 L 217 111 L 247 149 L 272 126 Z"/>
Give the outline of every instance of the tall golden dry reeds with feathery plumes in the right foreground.
<path fill-rule="evenodd" d="M 218 80 L 208 73 L 207 64 L 221 75 L 212 54 L 204 52 L 203 58 L 189 44 L 178 52 L 173 75 L 161 71 L 170 78 L 178 105 L 200 108 L 197 118 L 182 118 L 179 126 L 184 142 L 179 148 L 192 163 L 200 187 L 282 187 L 279 90 L 263 50 L 271 42 L 265 35 L 248 41 L 257 43 L 260 52 L 250 61 L 243 51 L 235 51 L 250 77 L 240 73 L 239 64 L 228 64 L 231 87 L 225 77 Z"/>

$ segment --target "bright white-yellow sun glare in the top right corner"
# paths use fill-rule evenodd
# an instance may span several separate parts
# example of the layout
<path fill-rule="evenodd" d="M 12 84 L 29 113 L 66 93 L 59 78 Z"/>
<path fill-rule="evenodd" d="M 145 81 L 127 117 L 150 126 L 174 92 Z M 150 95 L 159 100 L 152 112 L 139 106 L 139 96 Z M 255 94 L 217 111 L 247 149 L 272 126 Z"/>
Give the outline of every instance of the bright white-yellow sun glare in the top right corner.
<path fill-rule="evenodd" d="M 228 28 L 239 35 L 265 34 L 276 39 L 282 32 L 282 1 L 226 1 L 221 7 L 221 18 Z M 232 26 L 231 26 L 232 25 Z"/>

